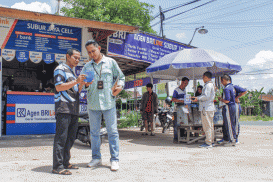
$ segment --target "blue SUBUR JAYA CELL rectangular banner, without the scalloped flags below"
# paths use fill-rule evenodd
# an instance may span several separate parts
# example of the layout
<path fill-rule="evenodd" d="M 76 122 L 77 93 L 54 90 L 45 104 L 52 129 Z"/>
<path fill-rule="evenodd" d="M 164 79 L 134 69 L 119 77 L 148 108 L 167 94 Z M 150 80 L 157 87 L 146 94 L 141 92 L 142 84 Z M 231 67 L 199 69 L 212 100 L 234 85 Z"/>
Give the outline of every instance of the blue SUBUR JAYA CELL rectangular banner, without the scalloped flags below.
<path fill-rule="evenodd" d="M 81 28 L 18 20 L 11 31 L 5 49 L 59 54 L 70 48 L 81 51 Z"/>

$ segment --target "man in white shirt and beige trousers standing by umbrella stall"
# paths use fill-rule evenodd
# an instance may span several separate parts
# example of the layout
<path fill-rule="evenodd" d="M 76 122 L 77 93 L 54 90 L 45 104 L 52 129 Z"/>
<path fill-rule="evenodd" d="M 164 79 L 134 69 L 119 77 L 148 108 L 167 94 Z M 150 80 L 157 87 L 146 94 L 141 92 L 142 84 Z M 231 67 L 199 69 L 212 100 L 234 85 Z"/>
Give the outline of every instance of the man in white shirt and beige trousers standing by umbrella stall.
<path fill-rule="evenodd" d="M 194 98 L 194 102 L 199 101 L 199 111 L 201 112 L 201 120 L 203 130 L 206 134 L 205 143 L 199 147 L 209 148 L 214 145 L 214 124 L 213 117 L 215 112 L 214 107 L 214 97 L 215 97 L 215 87 L 211 81 L 212 73 L 207 71 L 203 74 L 203 81 L 205 86 L 203 88 L 202 94 Z"/>

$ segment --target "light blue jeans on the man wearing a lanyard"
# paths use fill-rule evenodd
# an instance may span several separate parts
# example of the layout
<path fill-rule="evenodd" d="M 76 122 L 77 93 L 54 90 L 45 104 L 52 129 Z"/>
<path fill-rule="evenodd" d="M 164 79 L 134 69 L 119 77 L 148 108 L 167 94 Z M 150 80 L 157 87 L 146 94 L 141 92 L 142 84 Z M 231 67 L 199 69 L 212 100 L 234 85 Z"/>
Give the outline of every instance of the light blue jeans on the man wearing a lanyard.
<path fill-rule="evenodd" d="M 119 161 L 119 134 L 117 129 L 116 107 L 109 110 L 88 110 L 92 159 L 101 159 L 100 153 L 100 128 L 102 114 L 105 119 L 108 133 L 108 141 L 111 159 L 110 161 Z"/>

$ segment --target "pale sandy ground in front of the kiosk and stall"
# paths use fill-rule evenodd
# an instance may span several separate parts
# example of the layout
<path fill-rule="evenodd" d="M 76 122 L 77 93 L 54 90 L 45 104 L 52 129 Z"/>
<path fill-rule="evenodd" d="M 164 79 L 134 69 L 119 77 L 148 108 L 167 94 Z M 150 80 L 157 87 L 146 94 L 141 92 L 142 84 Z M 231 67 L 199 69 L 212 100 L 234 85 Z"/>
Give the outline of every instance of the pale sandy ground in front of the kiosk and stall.
<path fill-rule="evenodd" d="M 198 148 L 173 144 L 172 131 L 141 136 L 138 128 L 120 130 L 120 170 L 110 171 L 107 139 L 103 166 L 86 168 L 91 150 L 76 141 L 71 162 L 80 166 L 71 176 L 52 174 L 53 137 L 0 139 L 0 181 L 273 181 L 273 126 L 244 125 L 240 144 Z"/>

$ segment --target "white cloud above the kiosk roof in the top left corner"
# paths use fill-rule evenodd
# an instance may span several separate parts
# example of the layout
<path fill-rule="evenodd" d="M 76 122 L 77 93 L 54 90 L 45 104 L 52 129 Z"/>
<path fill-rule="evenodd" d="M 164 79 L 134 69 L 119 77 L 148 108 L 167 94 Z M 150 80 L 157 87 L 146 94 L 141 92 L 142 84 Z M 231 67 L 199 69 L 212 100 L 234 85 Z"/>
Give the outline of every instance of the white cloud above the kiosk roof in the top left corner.
<path fill-rule="evenodd" d="M 21 9 L 21 10 L 27 10 L 27 11 L 35 11 L 40 13 L 51 13 L 51 6 L 49 6 L 47 3 L 41 3 L 41 2 L 32 2 L 30 4 L 26 4 L 25 2 L 15 3 L 11 6 L 11 8 L 14 9 Z"/>

